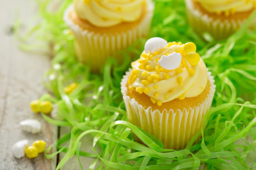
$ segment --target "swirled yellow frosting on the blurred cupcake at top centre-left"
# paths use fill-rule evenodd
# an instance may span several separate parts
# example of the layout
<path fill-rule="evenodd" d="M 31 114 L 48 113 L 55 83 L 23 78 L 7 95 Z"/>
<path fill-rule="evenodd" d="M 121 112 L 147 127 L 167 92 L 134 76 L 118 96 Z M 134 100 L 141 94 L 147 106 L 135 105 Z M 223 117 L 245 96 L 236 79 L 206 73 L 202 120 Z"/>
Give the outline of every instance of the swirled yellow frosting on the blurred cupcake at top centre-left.
<path fill-rule="evenodd" d="M 75 0 L 75 13 L 98 27 L 136 21 L 142 14 L 144 0 Z"/>

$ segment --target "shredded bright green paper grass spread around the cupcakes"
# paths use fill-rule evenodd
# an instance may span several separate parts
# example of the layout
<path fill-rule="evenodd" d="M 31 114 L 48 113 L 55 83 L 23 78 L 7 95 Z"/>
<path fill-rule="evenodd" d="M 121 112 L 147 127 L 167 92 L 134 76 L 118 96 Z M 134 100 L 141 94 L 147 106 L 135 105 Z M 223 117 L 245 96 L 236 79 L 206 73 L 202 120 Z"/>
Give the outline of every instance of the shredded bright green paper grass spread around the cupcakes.
<path fill-rule="evenodd" d="M 186 149 L 164 149 L 161 142 L 127 121 L 120 82 L 130 67 L 129 55 L 139 57 L 146 39 L 137 40 L 122 51 L 120 65 L 110 57 L 101 74 L 92 74 L 75 57 L 73 35 L 63 21 L 68 1 L 38 0 L 41 22 L 23 40 L 33 36 L 33 45 L 23 42 L 24 50 L 44 50 L 54 56 L 44 84 L 49 94 L 41 100 L 58 106 L 58 115 L 43 118 L 59 127 L 70 127 L 46 151 L 50 159 L 65 152 L 56 169 L 77 155 L 92 157 L 90 167 L 81 169 L 254 169 L 256 168 L 256 30 L 249 29 L 256 11 L 228 40 L 214 40 L 208 33 L 196 35 L 188 26 L 184 1 L 154 0 L 155 11 L 150 37 L 167 41 L 195 42 L 215 78 L 216 92 L 208 123 Z M 18 27 L 17 27 L 18 28 Z M 37 43 L 38 42 L 38 43 Z M 139 49 L 137 48 L 139 46 Z M 76 82 L 70 95 L 65 86 Z M 137 135 L 145 145 L 134 141 Z M 92 136 L 94 152 L 80 151 L 83 137 Z M 196 143 L 194 143 L 196 141 Z M 52 147 L 58 152 L 50 153 Z"/>

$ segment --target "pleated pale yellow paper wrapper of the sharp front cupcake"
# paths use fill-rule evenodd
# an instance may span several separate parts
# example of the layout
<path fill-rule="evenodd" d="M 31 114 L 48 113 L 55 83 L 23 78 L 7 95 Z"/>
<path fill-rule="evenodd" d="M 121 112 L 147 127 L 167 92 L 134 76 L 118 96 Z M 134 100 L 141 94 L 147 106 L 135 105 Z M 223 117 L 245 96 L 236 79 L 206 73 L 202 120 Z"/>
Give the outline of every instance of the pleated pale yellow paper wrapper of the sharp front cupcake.
<path fill-rule="evenodd" d="M 132 69 L 126 73 L 121 82 L 121 91 L 127 108 L 129 122 L 137 125 L 163 142 L 165 148 L 182 149 L 201 130 L 204 115 L 209 111 L 215 93 L 214 79 L 208 72 L 210 91 L 202 103 L 186 110 L 160 112 L 144 108 L 134 98 L 127 96 L 127 81 Z M 136 137 L 135 137 L 136 139 Z"/>

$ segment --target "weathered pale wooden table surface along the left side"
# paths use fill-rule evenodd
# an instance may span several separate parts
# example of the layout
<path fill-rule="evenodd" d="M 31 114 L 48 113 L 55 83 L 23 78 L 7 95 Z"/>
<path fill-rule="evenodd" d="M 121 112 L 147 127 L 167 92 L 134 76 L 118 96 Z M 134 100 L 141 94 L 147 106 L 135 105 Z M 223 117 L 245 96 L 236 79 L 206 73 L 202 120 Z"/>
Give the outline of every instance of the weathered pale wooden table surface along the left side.
<path fill-rule="evenodd" d="M 50 68 L 50 58 L 44 55 L 23 52 L 12 34 L 17 19 L 31 25 L 31 19 L 37 13 L 36 1 L 1 1 L 0 7 L 0 169 L 55 169 L 63 157 L 59 154 L 46 159 L 39 154 L 35 159 L 23 157 L 16 159 L 11 147 L 19 140 L 27 139 L 32 145 L 34 140 L 45 140 L 47 146 L 57 140 L 58 128 L 46 123 L 40 114 L 32 113 L 29 103 L 46 93 L 43 86 L 43 74 Z M 42 123 L 42 132 L 36 135 L 23 132 L 19 128 L 22 120 L 34 118 Z M 60 134 L 67 132 L 60 129 Z M 90 150 L 91 141 L 85 139 L 82 146 Z M 55 151 L 55 148 L 53 148 Z M 93 159 L 82 158 L 84 169 Z M 76 157 L 70 159 L 63 169 L 80 169 Z"/>

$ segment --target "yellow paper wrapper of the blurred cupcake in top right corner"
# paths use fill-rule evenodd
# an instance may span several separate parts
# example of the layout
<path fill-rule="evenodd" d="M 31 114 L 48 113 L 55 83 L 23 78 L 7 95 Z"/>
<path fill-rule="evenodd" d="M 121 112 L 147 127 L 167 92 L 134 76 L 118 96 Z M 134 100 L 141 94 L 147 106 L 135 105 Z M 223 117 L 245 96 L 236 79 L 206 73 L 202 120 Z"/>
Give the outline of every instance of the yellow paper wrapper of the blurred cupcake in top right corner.
<path fill-rule="evenodd" d="M 202 13 L 194 8 L 192 1 L 193 0 L 186 0 L 188 22 L 199 35 L 207 31 L 213 35 L 213 38 L 216 40 L 228 38 L 229 35 L 235 33 L 235 31 L 246 21 L 246 19 L 216 20 L 210 17 L 207 13 Z"/>

